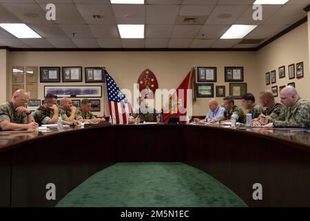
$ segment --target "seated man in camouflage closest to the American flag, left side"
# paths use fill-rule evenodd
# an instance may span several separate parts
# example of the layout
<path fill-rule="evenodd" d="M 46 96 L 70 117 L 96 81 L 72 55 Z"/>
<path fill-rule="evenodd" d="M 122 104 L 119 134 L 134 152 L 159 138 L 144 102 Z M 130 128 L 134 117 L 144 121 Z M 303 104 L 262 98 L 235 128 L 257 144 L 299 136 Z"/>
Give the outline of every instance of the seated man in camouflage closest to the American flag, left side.
<path fill-rule="evenodd" d="M 105 122 L 104 118 L 96 118 L 91 112 L 92 102 L 90 99 L 82 99 L 81 108 L 76 108 L 75 119 L 79 122 L 100 123 Z"/>

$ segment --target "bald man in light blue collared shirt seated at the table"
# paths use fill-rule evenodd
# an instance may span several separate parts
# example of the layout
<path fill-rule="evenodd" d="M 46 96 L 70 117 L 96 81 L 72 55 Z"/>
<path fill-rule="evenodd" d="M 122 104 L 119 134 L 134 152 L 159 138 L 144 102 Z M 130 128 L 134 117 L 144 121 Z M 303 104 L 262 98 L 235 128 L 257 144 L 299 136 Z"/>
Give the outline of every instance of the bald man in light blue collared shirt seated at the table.
<path fill-rule="evenodd" d="M 225 108 L 219 106 L 216 99 L 212 98 L 209 100 L 209 108 L 210 111 L 209 113 L 207 113 L 205 119 L 194 118 L 194 122 L 209 122 L 211 124 L 214 124 L 215 122 L 224 119 Z"/>

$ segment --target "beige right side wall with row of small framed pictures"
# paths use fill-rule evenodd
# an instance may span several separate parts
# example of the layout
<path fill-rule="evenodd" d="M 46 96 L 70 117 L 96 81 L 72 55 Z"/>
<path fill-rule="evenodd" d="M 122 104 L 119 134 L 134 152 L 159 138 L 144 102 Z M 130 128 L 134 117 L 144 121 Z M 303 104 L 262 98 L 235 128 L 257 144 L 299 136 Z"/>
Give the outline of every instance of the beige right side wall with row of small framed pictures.
<path fill-rule="evenodd" d="M 271 44 L 258 51 L 258 88 L 271 90 L 272 86 L 287 86 L 290 82 L 295 82 L 296 89 L 301 97 L 310 100 L 309 83 L 309 42 L 308 42 L 308 24 L 304 23 L 298 28 L 280 37 Z M 304 77 L 300 79 L 289 80 L 288 66 L 303 61 Z M 285 78 L 279 79 L 278 68 L 285 66 Z M 276 70 L 276 84 L 265 85 L 265 73 Z M 296 71 L 296 68 L 295 68 Z M 278 94 L 280 94 L 278 92 Z M 276 100 L 279 102 L 280 98 Z"/>

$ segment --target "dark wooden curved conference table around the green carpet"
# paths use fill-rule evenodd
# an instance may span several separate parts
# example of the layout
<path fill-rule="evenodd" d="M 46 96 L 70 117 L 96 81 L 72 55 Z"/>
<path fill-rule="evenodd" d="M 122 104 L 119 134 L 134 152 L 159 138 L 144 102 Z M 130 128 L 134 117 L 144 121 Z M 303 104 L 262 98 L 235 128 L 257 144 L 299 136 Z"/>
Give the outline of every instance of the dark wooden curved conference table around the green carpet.
<path fill-rule="evenodd" d="M 306 130 L 108 123 L 62 132 L 0 132 L 0 206 L 55 206 L 116 162 L 184 162 L 215 177 L 248 206 L 310 206 Z M 46 198 L 51 183 L 55 200 Z M 262 199 L 253 197 L 255 184 Z"/>

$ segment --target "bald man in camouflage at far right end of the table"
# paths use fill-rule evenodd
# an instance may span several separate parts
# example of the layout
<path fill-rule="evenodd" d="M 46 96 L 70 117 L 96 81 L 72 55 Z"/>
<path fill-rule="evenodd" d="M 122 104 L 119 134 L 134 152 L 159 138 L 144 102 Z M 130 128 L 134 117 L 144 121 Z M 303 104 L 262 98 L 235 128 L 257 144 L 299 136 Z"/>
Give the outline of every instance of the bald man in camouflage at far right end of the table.
<path fill-rule="evenodd" d="M 292 86 L 280 92 L 281 103 L 285 106 L 276 119 L 271 119 L 265 127 L 310 128 L 310 102 L 299 97 Z"/>

